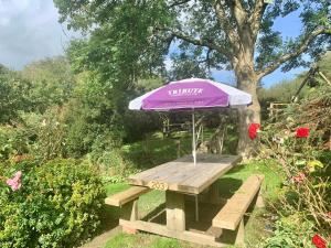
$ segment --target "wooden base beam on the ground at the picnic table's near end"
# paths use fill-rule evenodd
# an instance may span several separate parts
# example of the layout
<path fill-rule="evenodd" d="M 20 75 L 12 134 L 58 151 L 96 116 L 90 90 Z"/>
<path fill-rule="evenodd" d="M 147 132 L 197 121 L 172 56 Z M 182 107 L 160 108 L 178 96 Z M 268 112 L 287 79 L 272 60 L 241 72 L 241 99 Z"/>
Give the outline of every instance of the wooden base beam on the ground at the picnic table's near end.
<path fill-rule="evenodd" d="M 199 234 L 194 231 L 178 231 L 168 229 L 166 226 L 156 224 L 156 223 L 147 223 L 142 220 L 128 222 L 120 219 L 119 225 L 121 226 L 130 226 L 131 228 L 143 230 L 151 234 L 157 234 L 170 238 L 177 238 L 184 241 L 195 242 L 204 246 L 214 246 L 214 247 L 226 247 L 228 245 L 216 241 L 216 238 L 205 234 Z"/>

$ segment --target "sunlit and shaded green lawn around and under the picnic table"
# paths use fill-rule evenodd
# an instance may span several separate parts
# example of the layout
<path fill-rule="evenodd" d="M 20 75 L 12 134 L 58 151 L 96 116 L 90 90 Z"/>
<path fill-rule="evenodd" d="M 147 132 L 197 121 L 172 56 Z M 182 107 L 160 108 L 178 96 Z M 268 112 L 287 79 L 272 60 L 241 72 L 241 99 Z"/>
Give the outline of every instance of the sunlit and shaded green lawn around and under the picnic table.
<path fill-rule="evenodd" d="M 188 134 L 180 133 L 175 139 L 180 139 L 182 150 L 190 151 L 191 138 Z M 140 170 L 154 166 L 157 164 L 173 160 L 177 158 L 177 143 L 173 138 L 162 138 L 160 133 L 150 136 L 142 142 L 126 144 L 122 147 L 122 154 L 130 160 Z M 239 164 L 228 171 L 218 180 L 220 194 L 222 197 L 231 197 L 232 194 L 241 186 L 244 180 L 249 175 L 258 173 L 264 174 L 263 195 L 266 200 L 277 197 L 277 188 L 281 183 L 281 174 L 277 166 L 271 162 L 252 162 L 249 164 Z M 106 186 L 107 195 L 116 194 L 128 188 L 126 183 L 108 184 Z M 161 203 L 164 203 L 164 192 L 152 191 L 139 198 L 139 212 L 146 215 Z M 258 209 L 252 213 L 249 222 L 245 227 L 245 239 L 248 247 L 255 247 L 256 240 L 260 240 L 268 234 L 265 231 L 266 220 L 263 217 L 265 211 Z M 119 212 L 115 207 L 107 207 L 105 220 L 118 219 Z M 115 225 L 115 224 L 114 224 Z M 116 235 L 108 240 L 104 248 L 189 248 L 192 244 L 180 241 L 171 238 L 164 238 L 157 235 L 139 233 L 131 236 L 126 234 Z M 203 246 L 194 245 L 196 248 Z M 205 246 L 204 246 L 205 247 Z M 231 247 L 231 246 L 229 246 Z"/>

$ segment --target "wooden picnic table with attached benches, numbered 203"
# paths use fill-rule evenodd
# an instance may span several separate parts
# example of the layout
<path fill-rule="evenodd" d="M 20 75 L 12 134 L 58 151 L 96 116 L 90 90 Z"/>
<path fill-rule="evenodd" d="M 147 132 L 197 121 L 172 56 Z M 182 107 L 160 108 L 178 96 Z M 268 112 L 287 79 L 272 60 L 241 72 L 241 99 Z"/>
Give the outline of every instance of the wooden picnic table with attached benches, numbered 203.
<path fill-rule="evenodd" d="M 260 185 L 254 183 L 256 180 L 254 182 L 249 181 L 249 185 L 243 185 L 245 188 L 249 187 L 252 193 L 248 195 L 248 198 L 246 193 L 244 197 L 242 197 L 243 195 L 238 197 L 237 201 L 241 202 L 241 209 L 236 211 L 238 212 L 237 214 L 228 215 L 228 213 L 222 213 L 222 211 L 218 213 L 222 200 L 218 196 L 216 181 L 235 166 L 241 159 L 239 155 L 199 154 L 197 163 L 194 165 L 192 155 L 185 155 L 130 176 L 128 182 L 132 187 L 127 192 L 110 197 L 108 201 L 106 200 L 106 203 L 122 206 L 119 224 L 126 229 L 143 230 L 166 237 L 221 247 L 224 244 L 218 241 L 218 237 L 222 235 L 224 225 L 227 227 L 234 223 L 233 227 L 229 226 L 227 228 L 234 229 L 236 233 L 243 233 L 243 215 Z M 253 187 L 255 190 L 252 190 L 252 185 L 255 185 L 255 187 Z M 153 222 L 151 218 L 139 219 L 138 202 L 132 200 L 137 200 L 139 195 L 150 190 L 166 191 L 166 207 L 163 209 L 166 217 L 163 222 Z M 221 216 L 222 222 L 218 222 L 218 218 L 214 218 L 213 223 L 215 225 L 211 226 L 212 220 L 210 220 L 209 227 L 199 228 L 199 224 L 203 223 L 205 217 L 201 218 L 201 222 L 196 222 L 196 197 L 199 197 L 199 202 L 218 204 L 216 212 L 213 211 L 214 208 L 210 207 L 210 205 L 205 205 L 205 208 L 202 205 L 200 214 L 202 216 L 207 216 L 209 214 L 213 217 Z M 195 213 L 192 211 L 194 200 Z M 236 203 L 234 204 L 236 205 Z M 228 207 L 233 209 L 233 206 Z M 236 208 L 236 206 L 234 206 L 234 208 Z M 162 211 L 154 216 L 160 217 L 161 213 Z M 192 216 L 194 215 L 195 220 L 192 220 Z M 222 216 L 225 216 L 225 218 L 229 216 L 231 219 L 224 220 Z M 241 222 L 242 225 L 238 225 Z M 243 235 L 241 238 L 243 239 Z"/>

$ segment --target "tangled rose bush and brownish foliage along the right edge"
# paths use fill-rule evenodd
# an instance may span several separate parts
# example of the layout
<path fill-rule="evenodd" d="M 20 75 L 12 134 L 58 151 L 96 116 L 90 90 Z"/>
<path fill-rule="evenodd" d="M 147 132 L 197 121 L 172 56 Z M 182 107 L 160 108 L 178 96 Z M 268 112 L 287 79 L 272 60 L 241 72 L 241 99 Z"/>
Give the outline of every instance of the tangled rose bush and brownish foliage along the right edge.
<path fill-rule="evenodd" d="M 278 211 L 300 213 L 322 233 L 331 228 L 330 97 L 329 86 L 314 88 L 300 105 L 289 105 L 276 122 L 266 123 L 259 134 L 260 157 L 277 160 L 287 175 Z"/>

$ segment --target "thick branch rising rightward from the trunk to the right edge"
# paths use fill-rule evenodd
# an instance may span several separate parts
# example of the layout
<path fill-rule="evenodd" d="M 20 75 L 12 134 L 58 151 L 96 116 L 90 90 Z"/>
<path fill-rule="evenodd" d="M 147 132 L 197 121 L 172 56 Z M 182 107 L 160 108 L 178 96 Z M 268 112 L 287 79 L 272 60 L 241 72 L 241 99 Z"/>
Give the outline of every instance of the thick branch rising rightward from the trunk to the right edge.
<path fill-rule="evenodd" d="M 306 37 L 302 39 L 301 44 L 293 52 L 284 54 L 280 56 L 277 61 L 269 64 L 267 67 L 260 69 L 257 72 L 257 77 L 261 78 L 265 75 L 268 75 L 273 73 L 275 69 L 277 69 L 282 63 L 295 58 L 299 56 L 301 53 L 308 50 L 309 44 L 313 41 L 314 37 L 317 37 L 320 34 L 331 34 L 331 29 L 327 28 L 319 28 L 312 31 L 311 33 L 307 34 Z"/>

